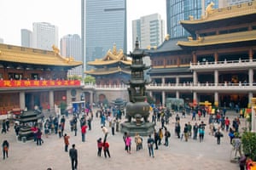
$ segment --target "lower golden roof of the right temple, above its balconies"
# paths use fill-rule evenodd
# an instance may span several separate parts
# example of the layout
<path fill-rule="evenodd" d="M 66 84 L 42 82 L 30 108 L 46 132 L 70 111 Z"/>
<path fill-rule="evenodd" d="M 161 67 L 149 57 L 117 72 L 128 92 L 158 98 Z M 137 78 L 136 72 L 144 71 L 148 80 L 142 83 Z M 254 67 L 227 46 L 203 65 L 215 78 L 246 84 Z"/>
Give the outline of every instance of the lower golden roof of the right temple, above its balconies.
<path fill-rule="evenodd" d="M 256 30 L 242 31 L 229 34 L 221 34 L 215 36 L 199 37 L 197 40 L 192 40 L 189 37 L 188 42 L 178 41 L 177 45 L 198 47 L 214 44 L 230 43 L 230 42 L 246 42 L 256 40 Z"/>

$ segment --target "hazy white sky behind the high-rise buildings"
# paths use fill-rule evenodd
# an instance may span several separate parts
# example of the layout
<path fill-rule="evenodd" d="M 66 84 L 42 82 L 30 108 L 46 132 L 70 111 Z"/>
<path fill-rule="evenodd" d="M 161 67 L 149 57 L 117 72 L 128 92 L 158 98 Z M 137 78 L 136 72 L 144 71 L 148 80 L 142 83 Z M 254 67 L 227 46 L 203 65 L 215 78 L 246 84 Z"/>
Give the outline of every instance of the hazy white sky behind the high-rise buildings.
<path fill-rule="evenodd" d="M 132 51 L 131 20 L 158 13 L 166 21 L 166 0 L 126 0 L 128 52 Z M 81 36 L 81 0 L 0 0 L 0 37 L 20 46 L 20 29 L 32 31 L 33 22 L 58 26 L 59 39 L 67 34 Z"/>

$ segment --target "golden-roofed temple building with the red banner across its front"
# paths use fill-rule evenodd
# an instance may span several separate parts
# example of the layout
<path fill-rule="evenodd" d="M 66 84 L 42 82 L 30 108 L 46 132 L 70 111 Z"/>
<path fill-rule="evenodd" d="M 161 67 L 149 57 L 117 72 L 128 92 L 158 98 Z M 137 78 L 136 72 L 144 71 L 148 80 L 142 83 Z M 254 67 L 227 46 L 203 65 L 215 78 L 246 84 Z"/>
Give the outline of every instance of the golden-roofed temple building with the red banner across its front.
<path fill-rule="evenodd" d="M 67 80 L 67 71 L 82 65 L 52 51 L 0 44 L 0 114 L 35 106 L 53 109 L 80 99 L 81 83 Z"/>

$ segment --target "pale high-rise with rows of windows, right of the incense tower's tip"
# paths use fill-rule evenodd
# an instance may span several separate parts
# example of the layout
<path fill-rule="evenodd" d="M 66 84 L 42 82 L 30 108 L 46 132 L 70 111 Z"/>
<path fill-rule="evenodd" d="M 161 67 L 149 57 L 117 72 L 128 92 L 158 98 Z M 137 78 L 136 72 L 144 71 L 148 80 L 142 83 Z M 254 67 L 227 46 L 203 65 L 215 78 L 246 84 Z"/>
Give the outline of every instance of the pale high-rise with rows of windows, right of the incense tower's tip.
<path fill-rule="evenodd" d="M 138 40 L 140 48 L 159 46 L 164 41 L 165 23 L 160 14 L 150 14 L 132 20 L 132 42 Z M 135 48 L 133 43 L 132 48 Z"/>

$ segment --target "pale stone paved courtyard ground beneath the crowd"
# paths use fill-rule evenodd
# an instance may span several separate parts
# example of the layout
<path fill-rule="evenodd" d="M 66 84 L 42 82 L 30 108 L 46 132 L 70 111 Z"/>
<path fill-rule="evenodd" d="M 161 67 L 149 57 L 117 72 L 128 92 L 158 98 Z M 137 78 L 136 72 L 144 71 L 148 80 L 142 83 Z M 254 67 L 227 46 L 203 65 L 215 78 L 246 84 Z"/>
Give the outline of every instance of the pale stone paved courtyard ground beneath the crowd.
<path fill-rule="evenodd" d="M 234 113 L 230 113 L 233 118 Z M 174 135 L 175 117 L 172 116 L 171 123 L 167 125 L 172 133 L 168 147 L 160 145 L 159 150 L 154 150 L 155 157 L 148 156 L 146 147 L 147 137 L 143 137 L 143 150 L 136 151 L 134 142 L 131 145 L 131 155 L 125 152 L 125 145 L 121 133 L 108 136 L 111 158 L 96 156 L 96 139 L 102 137 L 103 133 L 99 118 L 94 119 L 92 130 L 86 134 L 86 141 L 81 142 L 81 134 L 74 136 L 66 127 L 66 133 L 70 135 L 70 144 L 76 144 L 79 150 L 79 170 L 84 169 L 176 169 L 176 170 L 236 170 L 239 169 L 236 163 L 230 162 L 230 140 L 227 133 L 221 144 L 216 144 L 216 139 L 208 134 L 202 143 L 189 139 L 189 142 L 181 141 Z M 185 122 L 191 117 L 182 118 L 182 129 Z M 207 118 L 203 119 L 207 122 Z M 244 122 L 242 122 L 241 127 Z M 68 121 L 66 122 L 68 124 Z M 192 122 L 194 124 L 194 122 Z M 160 123 L 156 128 L 160 127 Z M 110 129 L 109 129 L 110 130 Z M 33 141 L 22 143 L 16 140 L 15 132 L 11 127 L 7 134 L 0 134 L 0 144 L 3 139 L 10 143 L 9 158 L 0 159 L 0 169 L 5 170 L 46 170 L 52 167 L 54 170 L 69 170 L 71 163 L 67 152 L 64 151 L 63 139 L 52 134 L 48 139 L 44 137 L 44 144 L 37 146 Z M 132 138 L 134 141 L 134 138 Z M 102 154 L 103 155 L 103 154 Z M 2 157 L 2 156 L 1 156 Z"/>

